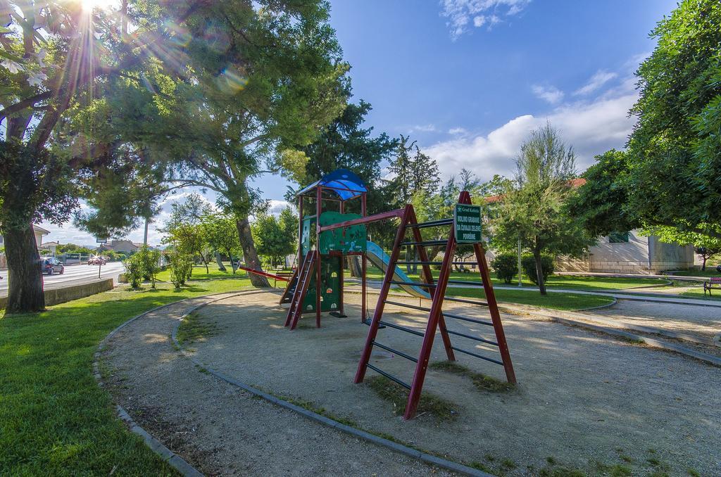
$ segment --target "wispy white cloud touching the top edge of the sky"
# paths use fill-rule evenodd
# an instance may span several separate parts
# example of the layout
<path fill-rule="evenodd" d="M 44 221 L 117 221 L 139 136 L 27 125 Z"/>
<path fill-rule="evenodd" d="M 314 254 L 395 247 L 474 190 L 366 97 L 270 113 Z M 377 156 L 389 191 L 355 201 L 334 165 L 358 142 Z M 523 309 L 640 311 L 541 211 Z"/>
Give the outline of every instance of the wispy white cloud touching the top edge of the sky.
<path fill-rule="evenodd" d="M 468 32 L 469 23 L 474 27 L 493 25 L 523 11 L 531 0 L 441 0 L 441 15 L 448 19 L 446 25 L 451 32 L 451 40 Z"/>

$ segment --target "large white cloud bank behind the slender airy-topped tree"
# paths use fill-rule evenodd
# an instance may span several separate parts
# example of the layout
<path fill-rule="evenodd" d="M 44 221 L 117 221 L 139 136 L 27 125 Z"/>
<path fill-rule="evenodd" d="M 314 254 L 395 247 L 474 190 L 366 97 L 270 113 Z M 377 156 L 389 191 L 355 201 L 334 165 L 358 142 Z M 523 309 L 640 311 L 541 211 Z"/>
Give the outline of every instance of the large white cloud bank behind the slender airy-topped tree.
<path fill-rule="evenodd" d="M 629 108 L 637 99 L 634 91 L 619 88 L 614 97 L 598 97 L 591 102 L 562 104 L 547 115 L 515 117 L 487 135 L 468 134 L 424 148 L 443 177 L 461 168 L 474 171 L 481 179 L 493 174 L 513 176 L 516 155 L 528 133 L 548 120 L 577 154 L 577 167 L 583 171 L 593 164 L 593 156 L 610 148 L 622 148 L 631 133 L 634 118 Z"/>

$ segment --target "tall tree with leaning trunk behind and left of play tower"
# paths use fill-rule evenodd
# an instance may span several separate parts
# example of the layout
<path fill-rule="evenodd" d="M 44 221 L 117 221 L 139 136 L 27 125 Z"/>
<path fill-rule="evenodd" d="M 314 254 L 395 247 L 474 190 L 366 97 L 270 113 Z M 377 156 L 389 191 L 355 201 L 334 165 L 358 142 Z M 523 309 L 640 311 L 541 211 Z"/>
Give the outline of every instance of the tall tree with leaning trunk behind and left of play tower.
<path fill-rule="evenodd" d="M 237 218 L 245 262 L 260 269 L 249 215 L 262 201 L 249 180 L 278 172 L 299 182 L 307 161 L 299 149 L 345 107 L 348 65 L 325 1 L 196 6 L 183 25 L 192 74 L 178 93 L 191 117 L 177 127 L 192 147 L 178 156 L 180 175 L 219 195 L 218 205 Z M 208 36 L 218 40 L 208 44 Z M 265 277 L 250 280 L 269 286 Z"/>

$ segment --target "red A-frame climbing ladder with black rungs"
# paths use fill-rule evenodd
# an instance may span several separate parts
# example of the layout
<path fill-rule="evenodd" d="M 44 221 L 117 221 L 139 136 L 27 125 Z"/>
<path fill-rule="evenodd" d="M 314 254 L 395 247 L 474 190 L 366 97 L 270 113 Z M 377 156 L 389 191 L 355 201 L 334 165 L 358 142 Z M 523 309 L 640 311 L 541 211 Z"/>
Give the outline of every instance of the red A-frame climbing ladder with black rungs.
<path fill-rule="evenodd" d="M 459 203 L 461 204 L 471 204 L 471 196 L 468 192 L 461 192 L 461 195 L 459 196 Z M 446 240 L 430 240 L 430 241 L 424 241 L 423 236 L 421 234 L 421 229 L 423 228 L 430 228 L 430 227 L 441 227 L 441 226 L 450 226 L 450 232 L 448 234 L 448 239 Z M 412 240 L 411 241 L 404 241 L 407 231 L 410 229 L 412 232 Z M 445 253 L 443 254 L 443 262 L 430 262 L 428 260 L 428 255 L 426 254 L 425 247 L 426 246 L 438 246 L 443 245 L 445 246 Z M 420 258 L 420 261 L 418 262 L 399 262 L 398 257 L 400 250 L 403 246 L 417 246 L 418 249 L 418 257 Z M 381 287 L 381 293 L 378 298 L 378 304 L 376 306 L 376 311 L 373 314 L 373 321 L 371 321 L 371 328 L 368 330 L 368 336 L 366 338 L 366 345 L 363 347 L 363 354 L 361 355 L 361 360 L 358 362 L 358 371 L 355 373 L 355 383 L 361 383 L 363 382 L 363 378 L 365 378 L 366 370 L 370 368 L 373 371 L 376 371 L 376 373 L 379 373 L 381 375 L 384 375 L 386 378 L 389 378 L 390 380 L 394 381 L 395 383 L 398 383 L 399 385 L 402 385 L 404 388 L 407 388 L 410 393 L 408 396 L 408 401 L 406 404 L 405 412 L 404 412 L 404 419 L 412 419 L 413 416 L 415 416 L 415 411 L 418 406 L 418 402 L 420 401 L 420 394 L 423 389 L 423 382 L 425 380 L 425 373 L 426 370 L 428 370 L 428 360 L 430 360 L 430 352 L 433 349 L 433 339 L 435 338 L 435 331 L 438 329 L 438 331 L 441 334 L 441 338 L 443 339 L 443 346 L 446 349 L 446 356 L 448 357 L 449 361 L 455 361 L 456 357 L 454 352 L 460 352 L 464 355 L 469 355 L 472 357 L 477 357 L 482 360 L 486 360 L 488 362 L 495 363 L 497 365 L 502 365 L 505 369 L 505 375 L 506 379 L 509 383 L 516 383 L 516 375 L 513 372 L 513 363 L 510 360 L 510 352 L 508 352 L 508 344 L 505 341 L 505 334 L 503 332 L 503 324 L 500 320 L 500 313 L 498 311 L 498 305 L 495 300 L 495 294 L 493 293 L 493 286 L 490 280 L 490 273 L 488 272 L 488 265 L 485 258 L 485 251 L 483 250 L 483 247 L 481 244 L 473 244 L 474 248 L 474 254 L 476 256 L 476 264 L 479 268 L 479 272 L 481 275 L 481 282 L 472 282 L 472 281 L 465 281 L 465 280 L 449 280 L 449 277 L 451 275 L 451 269 L 454 257 L 454 252 L 456 250 L 456 239 L 455 239 L 455 233 L 454 233 L 454 220 L 452 218 L 443 219 L 443 220 L 433 220 L 430 222 L 424 222 L 424 223 L 417 223 L 417 219 L 415 217 L 415 210 L 413 210 L 412 205 L 406 205 L 406 208 L 404 209 L 404 212 L 401 216 L 401 223 L 398 228 L 398 232 L 396 235 L 395 243 L 393 246 L 393 250 L 390 256 L 390 261 L 388 264 L 388 268 L 386 269 L 386 275 L 383 280 L 383 285 Z M 393 270 L 398 264 L 419 264 L 423 267 L 423 282 L 399 282 L 397 280 L 393 280 Z M 441 265 L 441 272 L 438 276 L 438 282 L 433 281 L 433 275 L 430 272 L 430 265 L 440 264 Z M 455 297 L 448 297 L 446 296 L 446 288 L 448 284 L 454 284 L 454 285 L 464 285 L 466 287 L 482 287 L 485 292 L 485 301 L 480 300 L 468 300 L 466 298 L 455 298 Z M 412 306 L 406 303 L 402 303 L 397 300 L 388 300 L 388 293 L 390 290 L 391 285 L 415 285 L 420 287 L 427 287 L 428 292 L 430 293 L 432 297 L 432 302 L 430 308 L 426 308 L 423 306 Z M 485 320 L 479 320 L 476 318 L 469 318 L 467 316 L 460 316 L 455 313 L 445 313 L 443 312 L 443 302 L 444 301 L 452 301 L 456 303 L 466 303 L 469 305 L 475 305 L 475 306 L 484 306 L 488 308 L 488 311 L 490 312 L 490 321 Z M 416 329 L 410 329 L 406 326 L 400 326 L 395 323 L 391 323 L 389 321 L 383 320 L 383 311 L 384 306 L 392 305 L 392 306 L 401 306 L 404 308 L 411 308 L 413 310 L 417 311 L 423 311 L 425 313 L 428 313 L 428 324 L 426 325 L 425 332 L 420 332 Z M 474 324 L 480 324 L 480 325 L 486 325 L 492 327 L 493 331 L 495 332 L 495 341 L 492 339 L 485 339 L 479 336 L 472 336 L 471 334 L 466 333 L 460 333 L 458 331 L 451 331 L 446 328 L 446 321 L 445 318 L 450 318 L 454 320 L 459 321 L 466 321 Z M 420 352 L 418 354 L 418 357 L 412 357 L 410 355 L 407 355 L 406 353 L 399 352 L 397 349 L 392 349 L 389 346 L 386 346 L 386 344 L 381 344 L 376 340 L 379 327 L 386 326 L 390 329 L 396 329 L 399 331 L 404 331 L 409 334 L 413 334 L 415 336 L 423 337 L 423 343 L 420 347 Z M 467 349 L 462 349 L 459 347 L 454 346 L 451 344 L 451 339 L 449 335 L 459 336 L 463 339 L 469 339 L 474 342 L 481 342 L 485 344 L 490 344 L 494 347 L 498 348 L 498 352 L 500 353 L 500 360 L 496 359 L 495 357 L 487 357 L 483 355 L 479 355 L 476 350 L 469 351 Z M 403 380 L 400 380 L 399 378 L 391 375 L 390 373 L 387 373 L 384 370 L 381 370 L 379 367 L 376 367 L 375 365 L 372 365 L 370 362 L 371 359 L 371 352 L 373 352 L 373 347 L 379 347 L 381 349 L 386 349 L 386 351 L 393 352 L 396 355 L 405 358 L 406 360 L 409 360 L 411 362 L 415 362 L 415 373 L 413 375 L 412 382 L 405 383 Z"/>

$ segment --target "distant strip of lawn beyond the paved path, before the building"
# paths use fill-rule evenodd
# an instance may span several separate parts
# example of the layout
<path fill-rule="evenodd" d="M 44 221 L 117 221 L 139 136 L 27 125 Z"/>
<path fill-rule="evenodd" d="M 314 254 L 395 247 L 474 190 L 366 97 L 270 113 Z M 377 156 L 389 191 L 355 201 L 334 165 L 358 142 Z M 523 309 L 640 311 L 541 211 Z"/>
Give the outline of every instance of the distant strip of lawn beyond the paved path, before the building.
<path fill-rule="evenodd" d="M 433 277 L 438 277 L 438 270 L 433 270 Z M 368 267 L 367 269 L 368 278 L 373 280 L 382 280 L 384 277 L 381 269 L 376 267 Z M 350 275 L 347 274 L 348 277 Z M 413 280 L 420 280 L 418 275 L 409 275 Z M 466 280 L 472 282 L 480 282 L 481 277 L 478 272 L 461 273 L 452 272 L 451 280 Z M 503 281 L 497 280 L 492 277 L 493 285 L 506 285 Z M 611 278 L 611 277 L 562 277 L 552 276 L 549 277 L 547 287 L 549 288 L 565 288 L 568 290 L 628 290 L 635 287 L 648 287 L 650 285 L 664 285 L 668 280 L 661 280 L 658 278 Z M 524 287 L 536 287 L 531 280 L 523 277 Z M 518 280 L 514 280 L 511 285 L 516 286 Z M 499 290 L 500 291 L 500 290 Z"/>

